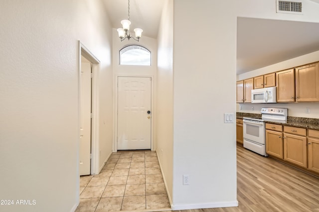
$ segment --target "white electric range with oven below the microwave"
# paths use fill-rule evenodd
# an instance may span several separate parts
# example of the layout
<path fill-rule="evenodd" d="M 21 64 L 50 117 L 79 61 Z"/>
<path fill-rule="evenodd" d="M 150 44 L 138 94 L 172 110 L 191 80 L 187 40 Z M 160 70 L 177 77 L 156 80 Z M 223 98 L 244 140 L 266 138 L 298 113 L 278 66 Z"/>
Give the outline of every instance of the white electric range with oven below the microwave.
<path fill-rule="evenodd" d="M 244 117 L 243 133 L 244 147 L 258 154 L 268 156 L 266 153 L 265 121 L 286 123 L 287 108 L 262 108 L 261 117 Z"/>

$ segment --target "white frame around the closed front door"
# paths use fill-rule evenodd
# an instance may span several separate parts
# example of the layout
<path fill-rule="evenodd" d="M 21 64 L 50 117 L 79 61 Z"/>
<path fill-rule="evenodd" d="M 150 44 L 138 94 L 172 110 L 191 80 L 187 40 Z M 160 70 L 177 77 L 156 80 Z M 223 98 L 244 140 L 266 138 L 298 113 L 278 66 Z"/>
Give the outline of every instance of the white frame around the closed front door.
<path fill-rule="evenodd" d="M 152 111 L 152 120 L 151 120 L 151 150 L 154 151 L 154 76 L 153 75 L 121 75 L 116 74 L 114 79 L 115 85 L 115 95 L 114 95 L 114 137 L 113 137 L 113 152 L 118 151 L 118 80 L 119 77 L 151 77 L 151 111 Z"/>

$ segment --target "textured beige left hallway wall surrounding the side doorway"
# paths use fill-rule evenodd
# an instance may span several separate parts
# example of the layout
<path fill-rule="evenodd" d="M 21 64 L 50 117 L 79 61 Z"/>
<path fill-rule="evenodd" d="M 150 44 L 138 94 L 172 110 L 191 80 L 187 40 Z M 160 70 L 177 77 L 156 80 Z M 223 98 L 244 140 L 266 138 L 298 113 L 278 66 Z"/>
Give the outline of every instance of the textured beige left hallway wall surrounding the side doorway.
<path fill-rule="evenodd" d="M 36 201 L 0 206 L 0 211 L 74 211 L 79 202 L 78 40 L 101 61 L 102 160 L 112 147 L 108 17 L 100 0 L 4 0 L 0 14 L 0 199 Z"/>

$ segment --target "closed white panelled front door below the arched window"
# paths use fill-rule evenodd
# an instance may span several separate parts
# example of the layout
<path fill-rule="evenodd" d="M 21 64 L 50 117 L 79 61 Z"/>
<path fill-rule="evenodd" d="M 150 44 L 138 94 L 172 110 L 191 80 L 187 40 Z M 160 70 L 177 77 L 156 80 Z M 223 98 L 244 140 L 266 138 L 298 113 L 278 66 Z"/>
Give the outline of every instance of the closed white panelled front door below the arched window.
<path fill-rule="evenodd" d="M 151 93 L 151 77 L 118 77 L 118 150 L 151 149 Z"/>

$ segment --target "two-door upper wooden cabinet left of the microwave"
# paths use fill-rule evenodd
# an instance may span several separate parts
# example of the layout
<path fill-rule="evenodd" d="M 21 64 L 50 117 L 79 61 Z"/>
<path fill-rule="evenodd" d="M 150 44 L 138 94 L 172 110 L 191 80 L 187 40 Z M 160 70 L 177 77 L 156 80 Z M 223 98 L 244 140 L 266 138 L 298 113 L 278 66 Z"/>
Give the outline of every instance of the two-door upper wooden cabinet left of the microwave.
<path fill-rule="evenodd" d="M 251 103 L 251 90 L 254 89 L 254 78 L 236 82 L 236 103 Z"/>

